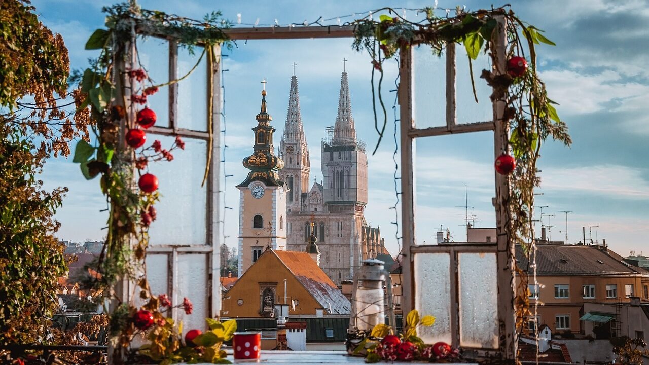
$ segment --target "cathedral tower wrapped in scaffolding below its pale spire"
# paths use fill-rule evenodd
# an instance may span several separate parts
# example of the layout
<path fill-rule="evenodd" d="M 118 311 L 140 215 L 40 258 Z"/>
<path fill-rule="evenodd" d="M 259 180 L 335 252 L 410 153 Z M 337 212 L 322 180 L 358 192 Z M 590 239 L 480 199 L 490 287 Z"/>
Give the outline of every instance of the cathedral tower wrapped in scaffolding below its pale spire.
<path fill-rule="evenodd" d="M 365 144 L 356 139 L 347 72 L 341 77 L 336 125 L 323 141 L 321 160 L 324 201 L 362 212 L 367 205 L 367 155 Z"/>

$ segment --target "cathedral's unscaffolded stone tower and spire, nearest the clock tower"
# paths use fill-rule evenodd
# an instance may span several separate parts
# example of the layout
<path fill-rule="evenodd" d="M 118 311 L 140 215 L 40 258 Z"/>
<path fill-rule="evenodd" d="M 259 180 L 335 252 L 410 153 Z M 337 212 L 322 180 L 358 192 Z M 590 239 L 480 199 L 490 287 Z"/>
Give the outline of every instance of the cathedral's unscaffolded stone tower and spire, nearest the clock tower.
<path fill-rule="evenodd" d="M 288 97 L 288 113 L 280 151 L 285 166 L 282 180 L 288 186 L 286 205 L 289 212 L 301 212 L 304 199 L 309 192 L 309 172 L 311 160 L 309 146 L 306 144 L 302 116 L 300 115 L 300 95 L 297 91 L 297 77 L 291 77 L 291 90 Z"/>

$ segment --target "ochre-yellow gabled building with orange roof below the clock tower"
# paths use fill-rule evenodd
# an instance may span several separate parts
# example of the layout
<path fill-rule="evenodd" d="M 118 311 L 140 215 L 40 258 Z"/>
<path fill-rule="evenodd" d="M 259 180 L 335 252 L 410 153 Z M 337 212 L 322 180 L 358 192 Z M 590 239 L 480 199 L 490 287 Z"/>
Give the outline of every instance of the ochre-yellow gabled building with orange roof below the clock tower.
<path fill-rule="evenodd" d="M 278 304 L 289 316 L 349 315 L 351 306 L 308 253 L 266 249 L 225 294 L 221 316 L 271 318 Z"/>

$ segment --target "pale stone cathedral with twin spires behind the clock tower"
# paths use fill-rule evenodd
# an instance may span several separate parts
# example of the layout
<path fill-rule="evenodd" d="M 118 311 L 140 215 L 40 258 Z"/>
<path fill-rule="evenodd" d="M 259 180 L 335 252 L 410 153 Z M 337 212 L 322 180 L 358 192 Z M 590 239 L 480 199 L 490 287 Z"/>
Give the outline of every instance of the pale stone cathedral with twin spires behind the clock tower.
<path fill-rule="evenodd" d="M 313 233 L 321 251 L 320 266 L 334 281 L 351 279 L 360 261 L 387 254 L 378 228 L 371 228 L 363 211 L 367 199 L 367 155 L 356 138 L 347 73 L 341 77 L 336 125 L 325 130 L 321 144 L 323 181 L 310 182 L 310 155 L 300 115 L 297 77 L 291 77 L 289 107 L 280 144 L 286 165 L 280 180 L 288 192 L 287 226 L 289 251 L 306 250 Z M 291 201 L 292 196 L 292 201 Z"/>

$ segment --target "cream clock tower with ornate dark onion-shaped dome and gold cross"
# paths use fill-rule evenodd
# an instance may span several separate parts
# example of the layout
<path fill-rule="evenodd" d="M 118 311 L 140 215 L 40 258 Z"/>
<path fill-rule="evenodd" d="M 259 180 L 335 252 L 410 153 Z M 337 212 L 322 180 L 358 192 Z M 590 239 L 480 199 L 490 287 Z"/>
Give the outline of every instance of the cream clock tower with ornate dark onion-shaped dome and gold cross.
<path fill-rule="evenodd" d="M 265 83 L 265 81 L 263 81 Z M 266 111 L 266 91 L 262 110 L 256 116 L 254 150 L 243 158 L 250 170 L 239 189 L 239 272 L 250 268 L 266 249 L 286 251 L 286 199 L 288 188 L 277 173 L 284 161 L 275 156 L 273 117 Z"/>

